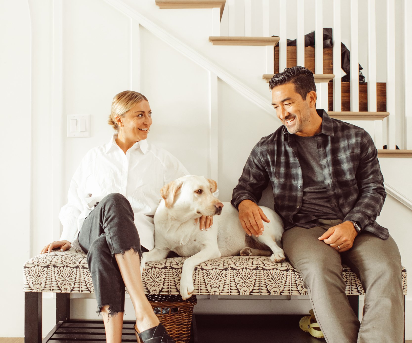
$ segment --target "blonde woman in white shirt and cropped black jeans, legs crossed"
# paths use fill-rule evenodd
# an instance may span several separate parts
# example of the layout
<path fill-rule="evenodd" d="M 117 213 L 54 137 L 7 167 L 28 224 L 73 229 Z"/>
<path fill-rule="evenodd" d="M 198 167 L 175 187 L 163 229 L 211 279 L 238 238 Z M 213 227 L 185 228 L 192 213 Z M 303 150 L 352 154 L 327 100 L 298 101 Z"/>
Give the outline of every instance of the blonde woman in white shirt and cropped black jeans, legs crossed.
<path fill-rule="evenodd" d="M 138 341 L 174 342 L 145 297 L 140 257 L 154 247 L 160 188 L 188 172 L 173 155 L 147 143 L 152 110 L 144 95 L 130 90 L 117 94 L 108 123 L 117 133 L 83 158 L 59 214 L 61 240 L 41 253 L 72 245 L 87 253 L 107 342 L 122 339 L 124 286 L 136 313 Z M 208 229 L 212 218 L 201 217 L 200 224 Z"/>

